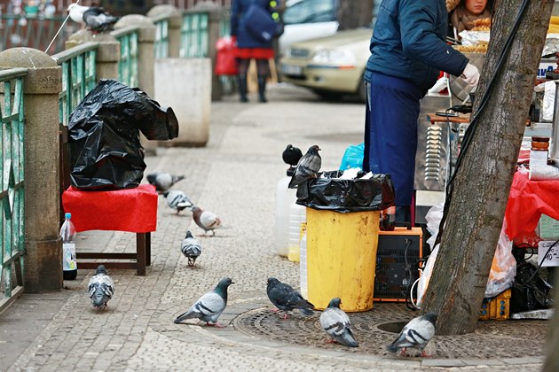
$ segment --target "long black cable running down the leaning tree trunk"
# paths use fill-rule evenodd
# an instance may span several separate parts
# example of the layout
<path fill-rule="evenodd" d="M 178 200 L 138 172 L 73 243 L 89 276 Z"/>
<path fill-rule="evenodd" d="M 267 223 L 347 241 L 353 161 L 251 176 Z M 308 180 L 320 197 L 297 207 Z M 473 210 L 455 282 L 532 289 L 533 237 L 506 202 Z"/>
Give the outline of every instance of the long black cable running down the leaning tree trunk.
<path fill-rule="evenodd" d="M 499 60 L 497 62 L 497 66 L 495 67 L 495 71 L 497 73 L 492 74 L 492 78 L 489 81 L 489 83 L 487 84 L 487 89 L 485 89 L 484 95 L 483 95 L 483 97 L 481 97 L 481 100 L 479 101 L 479 105 L 477 106 L 477 110 L 476 110 L 476 112 L 473 113 L 473 117 L 470 120 L 468 128 L 466 129 L 466 133 L 464 134 L 464 138 L 462 140 L 462 145 L 461 145 L 461 151 L 460 151 L 460 154 L 458 155 L 458 159 L 456 160 L 456 167 L 454 168 L 454 172 L 450 177 L 450 181 L 447 182 L 447 190 L 446 190 L 446 198 L 445 198 L 445 207 L 443 209 L 443 217 L 442 217 L 440 225 L 439 225 L 438 234 L 437 234 L 437 238 L 435 239 L 434 246 L 436 246 L 437 244 L 440 243 L 441 236 L 443 236 L 443 231 L 445 229 L 446 216 L 448 215 L 448 210 L 450 208 L 451 200 L 453 198 L 453 190 L 454 190 L 453 184 L 454 184 L 455 176 L 458 173 L 459 168 L 461 167 L 462 159 L 464 159 L 465 154 L 468 152 L 469 145 L 471 144 L 474 133 L 476 132 L 476 127 L 477 127 L 477 122 L 479 120 L 479 116 L 480 116 L 481 112 L 484 111 L 485 106 L 489 102 L 489 97 L 492 94 L 492 89 L 495 88 L 495 81 L 497 79 L 498 72 L 501 71 L 502 66 L 505 63 L 505 60 L 508 56 L 508 51 L 510 50 L 510 47 L 513 43 L 516 32 L 518 31 L 518 27 L 520 27 L 520 22 L 524 17 L 524 12 L 526 11 L 526 8 L 528 7 L 529 2 L 530 2 L 530 0 L 524 0 L 523 4 L 520 7 L 520 11 L 518 12 L 518 14 L 516 14 L 515 23 L 514 23 L 512 29 L 510 30 L 510 33 L 508 34 L 507 41 L 503 45 L 503 48 L 500 50 Z"/>

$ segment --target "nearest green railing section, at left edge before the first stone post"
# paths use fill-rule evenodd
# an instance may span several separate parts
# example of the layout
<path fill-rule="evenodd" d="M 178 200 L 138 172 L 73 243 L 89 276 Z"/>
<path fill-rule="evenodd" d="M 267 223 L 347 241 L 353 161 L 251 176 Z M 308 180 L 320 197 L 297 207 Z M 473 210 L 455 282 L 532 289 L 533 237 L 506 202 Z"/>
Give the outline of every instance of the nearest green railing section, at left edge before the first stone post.
<path fill-rule="evenodd" d="M 4 292 L 4 297 L 0 297 L 0 312 L 23 293 L 24 285 L 23 78 L 26 74 L 28 70 L 25 68 L 12 68 L 0 72 L 0 82 L 4 85 L 0 127 L 0 291 Z"/>

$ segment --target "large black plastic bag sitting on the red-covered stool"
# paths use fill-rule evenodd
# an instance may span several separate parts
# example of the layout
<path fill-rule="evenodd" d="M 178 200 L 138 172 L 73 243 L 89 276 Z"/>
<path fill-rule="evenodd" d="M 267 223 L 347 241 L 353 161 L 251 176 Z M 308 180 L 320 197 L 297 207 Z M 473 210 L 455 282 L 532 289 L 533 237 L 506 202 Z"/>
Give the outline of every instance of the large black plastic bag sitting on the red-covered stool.
<path fill-rule="evenodd" d="M 72 185 L 93 190 L 138 187 L 146 169 L 138 130 L 147 139 L 172 139 L 178 135 L 177 117 L 139 89 L 99 81 L 70 115 Z"/>

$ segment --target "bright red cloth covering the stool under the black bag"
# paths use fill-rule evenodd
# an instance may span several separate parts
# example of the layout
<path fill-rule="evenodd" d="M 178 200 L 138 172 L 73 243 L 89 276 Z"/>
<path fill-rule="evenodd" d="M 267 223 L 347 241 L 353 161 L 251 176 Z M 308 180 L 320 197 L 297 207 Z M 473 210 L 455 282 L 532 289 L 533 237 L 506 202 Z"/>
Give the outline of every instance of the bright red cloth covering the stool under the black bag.
<path fill-rule="evenodd" d="M 62 193 L 64 212 L 72 213 L 77 232 L 118 230 L 136 233 L 157 228 L 157 192 L 148 184 L 135 189 L 83 191 L 70 186 Z"/>

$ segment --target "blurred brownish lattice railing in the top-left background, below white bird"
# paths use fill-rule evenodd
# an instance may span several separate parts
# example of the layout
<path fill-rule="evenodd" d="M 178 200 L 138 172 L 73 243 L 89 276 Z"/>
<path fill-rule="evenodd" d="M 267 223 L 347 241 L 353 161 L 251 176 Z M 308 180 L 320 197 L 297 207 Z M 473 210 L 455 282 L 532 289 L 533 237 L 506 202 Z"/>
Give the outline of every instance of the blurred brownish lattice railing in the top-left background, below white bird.
<path fill-rule="evenodd" d="M 62 31 L 52 43 L 50 50 L 45 50 L 56 35 L 60 25 L 66 17 L 32 17 L 25 15 L 3 14 L 0 17 L 0 50 L 16 47 L 28 47 L 43 50 L 47 54 L 54 54 L 64 50 L 64 43 L 82 26 L 68 20 Z"/>

